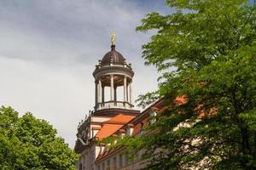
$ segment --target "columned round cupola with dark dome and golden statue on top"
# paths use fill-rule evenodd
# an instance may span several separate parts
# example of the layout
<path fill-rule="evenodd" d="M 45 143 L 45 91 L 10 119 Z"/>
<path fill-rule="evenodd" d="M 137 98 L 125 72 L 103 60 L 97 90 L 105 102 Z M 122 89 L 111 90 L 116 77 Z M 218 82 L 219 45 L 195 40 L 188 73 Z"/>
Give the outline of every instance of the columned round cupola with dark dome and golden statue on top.
<path fill-rule="evenodd" d="M 107 109 L 133 109 L 131 84 L 134 72 L 131 64 L 127 64 L 123 55 L 115 50 L 114 32 L 111 39 L 111 51 L 99 60 L 93 72 L 96 82 L 96 112 Z"/>

